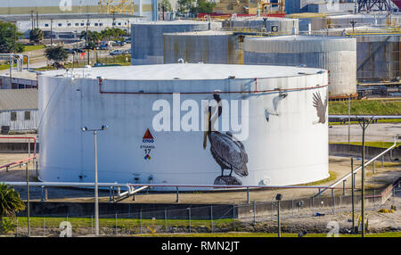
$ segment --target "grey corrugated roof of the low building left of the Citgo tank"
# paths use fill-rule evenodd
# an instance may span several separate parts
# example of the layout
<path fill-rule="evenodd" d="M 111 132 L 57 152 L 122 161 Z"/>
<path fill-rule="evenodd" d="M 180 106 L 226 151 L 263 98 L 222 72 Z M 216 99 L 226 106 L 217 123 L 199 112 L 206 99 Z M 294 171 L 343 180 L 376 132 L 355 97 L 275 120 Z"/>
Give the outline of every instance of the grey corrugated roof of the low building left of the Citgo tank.
<path fill-rule="evenodd" d="M 37 109 L 37 89 L 0 89 L 0 111 Z"/>

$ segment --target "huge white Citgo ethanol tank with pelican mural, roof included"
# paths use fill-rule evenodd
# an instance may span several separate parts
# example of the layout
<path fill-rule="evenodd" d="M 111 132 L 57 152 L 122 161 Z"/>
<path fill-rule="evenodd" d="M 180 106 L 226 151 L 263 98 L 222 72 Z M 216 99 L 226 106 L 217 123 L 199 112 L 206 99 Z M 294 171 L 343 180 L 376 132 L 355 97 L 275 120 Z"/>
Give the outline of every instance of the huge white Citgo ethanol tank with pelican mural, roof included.
<path fill-rule="evenodd" d="M 46 72 L 39 77 L 39 178 L 93 181 L 94 136 L 81 127 L 107 124 L 97 135 L 100 182 L 320 180 L 329 176 L 327 86 L 326 70 L 258 65 Z M 209 119 L 218 125 L 205 133 Z"/>

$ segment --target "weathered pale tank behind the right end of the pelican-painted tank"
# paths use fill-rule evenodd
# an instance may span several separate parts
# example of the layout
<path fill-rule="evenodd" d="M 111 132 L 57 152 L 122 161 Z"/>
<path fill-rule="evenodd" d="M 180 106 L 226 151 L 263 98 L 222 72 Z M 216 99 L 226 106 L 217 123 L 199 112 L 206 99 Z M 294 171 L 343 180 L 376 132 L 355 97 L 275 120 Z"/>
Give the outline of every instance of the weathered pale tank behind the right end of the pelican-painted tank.
<path fill-rule="evenodd" d="M 302 65 L 330 70 L 331 96 L 356 93 L 355 38 L 246 37 L 244 64 Z"/>

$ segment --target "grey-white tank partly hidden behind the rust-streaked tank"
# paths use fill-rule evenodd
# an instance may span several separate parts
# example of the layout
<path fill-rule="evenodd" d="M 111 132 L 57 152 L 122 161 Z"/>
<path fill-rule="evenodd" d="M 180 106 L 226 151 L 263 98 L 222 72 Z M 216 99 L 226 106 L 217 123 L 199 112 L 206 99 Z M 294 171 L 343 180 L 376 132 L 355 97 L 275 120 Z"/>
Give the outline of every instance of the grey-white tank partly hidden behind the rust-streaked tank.
<path fill-rule="evenodd" d="M 163 34 L 176 32 L 220 29 L 220 22 L 208 21 L 158 21 L 131 25 L 131 63 L 162 64 Z"/>

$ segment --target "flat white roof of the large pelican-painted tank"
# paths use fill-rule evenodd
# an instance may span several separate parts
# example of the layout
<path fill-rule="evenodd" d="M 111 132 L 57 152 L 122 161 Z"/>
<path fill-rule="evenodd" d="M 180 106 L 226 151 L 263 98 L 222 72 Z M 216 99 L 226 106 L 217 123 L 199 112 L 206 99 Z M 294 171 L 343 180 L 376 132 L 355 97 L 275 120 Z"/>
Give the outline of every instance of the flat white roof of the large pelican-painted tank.
<path fill-rule="evenodd" d="M 269 66 L 269 65 L 231 65 L 231 64 L 202 64 L 174 63 L 142 66 L 97 67 L 91 73 L 92 78 L 120 80 L 204 80 L 235 78 L 281 78 L 297 77 L 315 74 L 321 69 Z M 82 75 L 83 69 L 75 69 L 77 76 Z M 45 77 L 71 77 L 66 70 L 53 70 L 41 74 Z"/>

